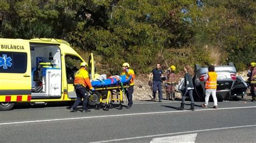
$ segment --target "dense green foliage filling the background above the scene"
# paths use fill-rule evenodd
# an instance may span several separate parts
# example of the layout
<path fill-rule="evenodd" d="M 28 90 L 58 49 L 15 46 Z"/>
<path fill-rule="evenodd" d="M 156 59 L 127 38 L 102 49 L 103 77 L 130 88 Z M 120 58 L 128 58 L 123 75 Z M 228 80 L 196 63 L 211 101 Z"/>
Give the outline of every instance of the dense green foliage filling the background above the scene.
<path fill-rule="evenodd" d="M 0 37 L 64 39 L 111 73 L 123 62 L 244 70 L 256 61 L 255 11 L 253 0 L 1 0 Z"/>

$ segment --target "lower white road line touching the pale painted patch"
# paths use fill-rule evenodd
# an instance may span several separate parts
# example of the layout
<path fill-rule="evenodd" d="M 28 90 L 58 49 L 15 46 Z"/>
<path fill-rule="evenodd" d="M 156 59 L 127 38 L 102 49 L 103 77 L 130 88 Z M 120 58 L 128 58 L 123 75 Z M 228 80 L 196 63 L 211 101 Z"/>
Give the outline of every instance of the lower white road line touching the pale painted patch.
<path fill-rule="evenodd" d="M 124 140 L 133 140 L 133 139 L 143 139 L 143 138 L 161 137 L 161 136 L 165 136 L 165 135 L 198 133 L 198 132 L 206 132 L 206 131 L 217 131 L 217 130 L 226 130 L 226 129 L 232 129 L 232 128 L 244 128 L 244 127 L 255 127 L 255 126 L 256 126 L 256 125 L 210 128 L 210 129 L 205 129 L 205 130 L 185 131 L 185 132 L 166 133 L 166 134 L 154 134 L 154 135 L 145 135 L 145 136 L 140 136 L 140 137 L 131 137 L 131 138 L 113 139 L 113 140 L 103 140 L 103 141 L 96 141 L 96 142 L 124 141 Z"/>

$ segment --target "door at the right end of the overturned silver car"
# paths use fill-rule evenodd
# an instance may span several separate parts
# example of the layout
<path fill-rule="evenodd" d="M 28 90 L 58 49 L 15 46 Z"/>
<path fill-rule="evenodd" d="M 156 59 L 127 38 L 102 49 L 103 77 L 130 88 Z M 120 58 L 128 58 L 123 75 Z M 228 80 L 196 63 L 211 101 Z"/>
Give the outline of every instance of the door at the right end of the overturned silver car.
<path fill-rule="evenodd" d="M 233 89 L 231 90 L 231 96 L 245 95 L 247 88 L 247 83 L 242 79 L 241 76 L 237 76 L 237 80 L 235 81 Z"/>

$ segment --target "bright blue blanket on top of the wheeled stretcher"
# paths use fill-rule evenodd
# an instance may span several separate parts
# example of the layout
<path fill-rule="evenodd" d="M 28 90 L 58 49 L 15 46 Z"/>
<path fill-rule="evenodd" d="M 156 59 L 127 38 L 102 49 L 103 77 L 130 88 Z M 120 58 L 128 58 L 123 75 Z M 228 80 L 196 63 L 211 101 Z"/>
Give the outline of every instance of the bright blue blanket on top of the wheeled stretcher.
<path fill-rule="evenodd" d="M 92 81 L 92 87 L 107 87 L 107 86 L 112 86 L 112 85 L 121 85 L 121 83 L 126 84 L 129 83 L 131 80 L 131 76 L 126 79 L 126 75 L 120 76 L 120 78 L 113 77 L 113 78 L 107 78 L 106 80 L 99 81 L 95 80 Z"/>

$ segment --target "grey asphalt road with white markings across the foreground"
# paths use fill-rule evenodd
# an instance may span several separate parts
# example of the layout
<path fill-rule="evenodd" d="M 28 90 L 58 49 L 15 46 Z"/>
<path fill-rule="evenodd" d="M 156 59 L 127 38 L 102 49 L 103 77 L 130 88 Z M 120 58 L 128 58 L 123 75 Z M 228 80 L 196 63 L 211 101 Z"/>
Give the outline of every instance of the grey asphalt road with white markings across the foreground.
<path fill-rule="evenodd" d="M 200 108 L 201 103 L 196 102 L 196 111 L 177 111 L 178 101 L 143 101 L 131 109 L 89 113 L 72 113 L 66 104 L 22 104 L 0 112 L 0 142 L 256 141 L 256 103 L 219 102 L 219 109 Z"/>

